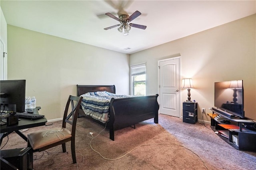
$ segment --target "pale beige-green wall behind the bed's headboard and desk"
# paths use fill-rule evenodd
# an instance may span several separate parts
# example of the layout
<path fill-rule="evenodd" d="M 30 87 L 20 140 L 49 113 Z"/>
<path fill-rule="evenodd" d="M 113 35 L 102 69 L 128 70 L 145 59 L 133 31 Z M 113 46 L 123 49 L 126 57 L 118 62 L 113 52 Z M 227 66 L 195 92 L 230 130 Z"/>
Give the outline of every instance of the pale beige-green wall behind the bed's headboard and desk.
<path fill-rule="evenodd" d="M 48 120 L 63 117 L 76 85 L 116 85 L 129 94 L 128 55 L 8 25 L 8 79 L 26 79 Z"/>

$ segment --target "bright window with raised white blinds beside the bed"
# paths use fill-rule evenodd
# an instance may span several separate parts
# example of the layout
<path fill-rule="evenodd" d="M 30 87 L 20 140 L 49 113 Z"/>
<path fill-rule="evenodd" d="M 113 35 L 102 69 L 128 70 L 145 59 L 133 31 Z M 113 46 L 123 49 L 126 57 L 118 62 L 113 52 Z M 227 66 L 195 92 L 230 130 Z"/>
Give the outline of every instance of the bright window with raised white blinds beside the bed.
<path fill-rule="evenodd" d="M 146 63 L 131 65 L 131 89 L 132 95 L 145 96 L 146 95 Z"/>

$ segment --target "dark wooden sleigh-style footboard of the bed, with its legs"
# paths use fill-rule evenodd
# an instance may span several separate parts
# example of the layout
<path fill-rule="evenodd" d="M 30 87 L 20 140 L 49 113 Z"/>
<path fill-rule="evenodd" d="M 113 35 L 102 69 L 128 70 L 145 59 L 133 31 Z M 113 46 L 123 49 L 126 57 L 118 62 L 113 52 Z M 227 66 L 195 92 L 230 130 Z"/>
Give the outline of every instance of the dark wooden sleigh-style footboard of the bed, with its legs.
<path fill-rule="evenodd" d="M 139 122 L 154 118 L 158 123 L 158 94 L 111 99 L 110 101 L 110 139 L 114 140 L 114 130 L 129 127 Z"/>

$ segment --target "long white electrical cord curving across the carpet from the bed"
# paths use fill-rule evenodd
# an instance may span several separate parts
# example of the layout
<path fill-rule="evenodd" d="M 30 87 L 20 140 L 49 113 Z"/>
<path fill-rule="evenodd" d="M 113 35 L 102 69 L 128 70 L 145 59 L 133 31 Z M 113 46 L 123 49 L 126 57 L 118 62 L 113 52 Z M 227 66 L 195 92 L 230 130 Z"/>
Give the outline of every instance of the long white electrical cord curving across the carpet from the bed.
<path fill-rule="evenodd" d="M 108 122 L 107 122 L 107 123 L 108 123 Z M 107 126 L 107 123 L 106 123 L 106 126 Z M 106 126 L 105 126 L 105 128 L 104 128 L 103 130 L 106 129 Z M 93 140 L 94 138 L 96 138 L 103 130 L 101 130 L 95 137 L 93 136 L 93 132 L 89 132 L 89 133 L 88 133 L 88 134 L 90 134 L 91 136 L 88 136 L 88 134 L 87 134 L 88 137 L 92 138 L 92 139 L 90 140 L 90 147 L 91 147 L 91 148 L 92 148 L 92 145 L 91 145 L 92 140 Z M 132 152 L 133 150 L 135 150 L 135 149 L 137 149 L 137 148 L 139 148 L 139 147 L 141 147 L 141 146 L 153 145 L 153 144 L 164 144 L 164 145 L 166 145 L 166 144 L 174 144 L 174 143 L 141 144 L 140 146 L 138 146 L 138 147 L 136 147 L 136 148 L 133 148 L 132 150 L 130 150 L 129 152 L 127 152 L 127 153 L 124 154 L 123 156 L 120 156 L 119 158 L 105 158 L 104 156 L 102 156 L 102 155 L 100 154 L 100 152 L 94 150 L 94 148 L 92 148 L 92 150 L 93 150 L 94 152 L 98 153 L 102 158 L 104 158 L 104 159 L 106 159 L 106 160 L 118 160 L 118 159 L 120 159 L 120 158 L 126 156 L 127 154 L 129 154 L 130 152 Z M 182 145 L 179 145 L 179 144 L 174 144 L 174 145 L 182 146 Z M 185 146 L 182 146 L 182 147 L 183 147 L 183 148 L 186 148 Z M 186 149 L 190 150 L 189 148 L 186 148 Z M 193 152 L 192 150 L 190 150 L 190 151 L 191 151 L 192 153 L 194 153 L 196 156 L 198 156 L 198 157 L 202 160 L 202 158 L 201 158 L 198 154 L 196 154 L 196 153 Z M 204 160 L 202 160 L 202 162 L 204 163 L 204 166 L 206 167 L 206 169 L 209 170 L 208 167 L 206 166 Z"/>

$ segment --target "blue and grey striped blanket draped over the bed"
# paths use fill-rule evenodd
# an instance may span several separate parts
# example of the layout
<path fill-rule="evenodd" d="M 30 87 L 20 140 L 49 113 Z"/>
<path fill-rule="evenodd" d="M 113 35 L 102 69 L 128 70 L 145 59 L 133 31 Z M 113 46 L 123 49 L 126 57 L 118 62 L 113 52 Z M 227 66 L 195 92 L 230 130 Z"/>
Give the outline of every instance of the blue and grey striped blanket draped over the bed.
<path fill-rule="evenodd" d="M 88 92 L 80 96 L 83 97 L 81 105 L 84 113 L 102 123 L 106 123 L 109 119 L 108 113 L 112 98 L 134 97 L 132 95 L 116 95 L 107 91 Z"/>

